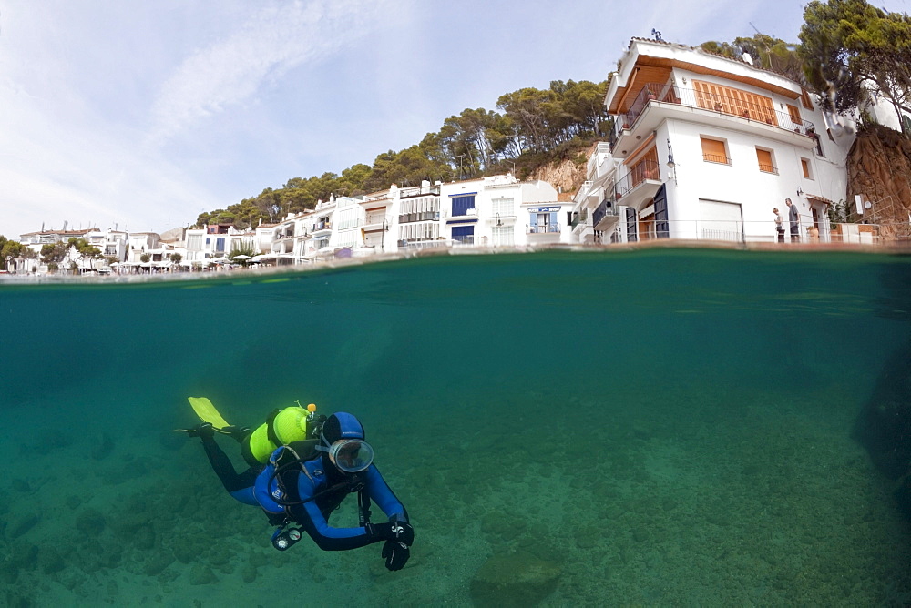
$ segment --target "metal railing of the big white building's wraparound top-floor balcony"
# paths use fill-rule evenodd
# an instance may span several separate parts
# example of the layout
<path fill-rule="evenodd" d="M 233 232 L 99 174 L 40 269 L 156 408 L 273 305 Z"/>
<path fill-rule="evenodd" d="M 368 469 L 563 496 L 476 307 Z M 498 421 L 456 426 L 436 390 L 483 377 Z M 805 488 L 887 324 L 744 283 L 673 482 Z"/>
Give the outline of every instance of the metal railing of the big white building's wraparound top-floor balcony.
<path fill-rule="evenodd" d="M 698 107 L 719 114 L 740 117 L 747 121 L 765 123 L 798 135 L 816 138 L 815 127 L 812 122 L 804 119 L 795 120 L 790 112 L 774 109 L 773 106 L 754 104 L 732 96 L 710 94 L 676 85 L 649 83 L 642 86 L 639 95 L 633 99 L 630 111 L 620 114 L 614 121 L 614 132 L 609 137 L 611 147 L 623 135 L 623 131 L 635 126 L 636 121 L 652 102 L 666 104 L 679 104 L 687 107 Z"/>

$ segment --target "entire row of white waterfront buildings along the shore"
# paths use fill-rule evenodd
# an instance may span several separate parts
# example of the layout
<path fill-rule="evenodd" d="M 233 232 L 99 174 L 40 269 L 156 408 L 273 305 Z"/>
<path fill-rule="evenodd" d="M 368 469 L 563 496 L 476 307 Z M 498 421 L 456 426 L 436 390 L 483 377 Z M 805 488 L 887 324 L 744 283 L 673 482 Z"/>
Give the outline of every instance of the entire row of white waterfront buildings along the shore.
<path fill-rule="evenodd" d="M 545 181 L 506 174 L 332 197 L 256 228 L 179 228 L 161 238 L 50 230 L 21 242 L 37 253 L 46 243 L 86 238 L 120 271 L 206 269 L 239 259 L 231 252 L 241 249 L 252 254 L 247 263 L 283 265 L 425 248 L 762 243 L 777 238 L 773 208 L 790 232 L 785 199 L 798 210 L 803 242 L 874 242 L 875 226 L 836 228 L 829 220 L 830 207 L 846 197 L 853 121 L 824 112 L 798 83 L 749 56 L 633 38 L 604 103 L 613 130 L 595 145 L 572 199 Z M 110 270 L 97 259 L 68 261 L 81 271 Z"/>

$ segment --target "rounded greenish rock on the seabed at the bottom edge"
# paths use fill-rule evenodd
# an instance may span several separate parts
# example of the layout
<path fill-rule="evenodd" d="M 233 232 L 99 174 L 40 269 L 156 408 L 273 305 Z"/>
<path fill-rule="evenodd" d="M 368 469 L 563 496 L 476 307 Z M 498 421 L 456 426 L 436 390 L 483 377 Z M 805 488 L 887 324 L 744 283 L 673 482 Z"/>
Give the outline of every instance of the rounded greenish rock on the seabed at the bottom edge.
<path fill-rule="evenodd" d="M 560 567 L 530 553 L 494 555 L 471 581 L 476 606 L 533 606 L 557 589 Z"/>

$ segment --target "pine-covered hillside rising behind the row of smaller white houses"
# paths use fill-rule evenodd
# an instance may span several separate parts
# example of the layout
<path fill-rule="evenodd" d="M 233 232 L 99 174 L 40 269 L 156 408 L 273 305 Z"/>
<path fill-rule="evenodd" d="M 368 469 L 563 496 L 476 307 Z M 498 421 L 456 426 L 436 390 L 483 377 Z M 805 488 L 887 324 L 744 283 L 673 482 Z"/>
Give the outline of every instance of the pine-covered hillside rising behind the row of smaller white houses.
<path fill-rule="evenodd" d="M 555 160 L 578 156 L 608 133 L 604 107 L 608 83 L 555 80 L 548 89 L 522 88 L 500 96 L 499 111 L 465 109 L 445 119 L 443 127 L 420 143 L 357 164 L 341 174 L 294 177 L 281 188 L 267 187 L 225 209 L 201 213 L 196 225 L 230 223 L 238 228 L 275 222 L 289 212 L 313 208 L 331 195 L 358 195 L 422 180 L 451 181 L 515 171 L 527 177 Z"/>

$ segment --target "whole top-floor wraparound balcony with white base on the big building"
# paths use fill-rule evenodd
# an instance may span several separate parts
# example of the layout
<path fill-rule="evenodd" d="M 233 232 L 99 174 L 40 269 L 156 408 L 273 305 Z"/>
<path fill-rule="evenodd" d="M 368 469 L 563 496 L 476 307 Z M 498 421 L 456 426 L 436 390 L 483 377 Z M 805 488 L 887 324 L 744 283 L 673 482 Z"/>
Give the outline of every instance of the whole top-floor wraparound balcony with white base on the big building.
<path fill-rule="evenodd" d="M 686 119 L 713 127 L 737 128 L 785 143 L 812 149 L 816 132 L 812 122 L 794 119 L 790 112 L 729 96 L 710 95 L 682 86 L 650 83 L 642 86 L 626 114 L 614 120 L 610 149 L 623 157 L 636 147 L 633 132 L 648 133 L 668 118 Z"/>

